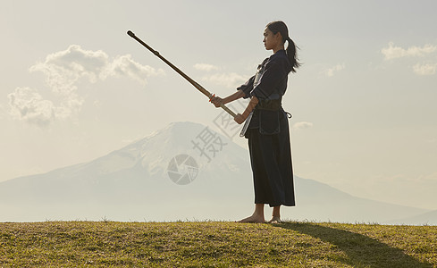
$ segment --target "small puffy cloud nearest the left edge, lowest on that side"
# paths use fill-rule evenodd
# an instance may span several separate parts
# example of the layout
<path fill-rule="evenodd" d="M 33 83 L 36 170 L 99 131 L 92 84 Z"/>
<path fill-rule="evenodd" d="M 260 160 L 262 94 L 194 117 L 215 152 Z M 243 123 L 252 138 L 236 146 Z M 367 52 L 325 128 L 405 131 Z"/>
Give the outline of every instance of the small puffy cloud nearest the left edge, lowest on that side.
<path fill-rule="evenodd" d="M 15 88 L 8 95 L 11 114 L 18 120 L 46 126 L 55 119 L 55 107 L 33 88 Z"/>

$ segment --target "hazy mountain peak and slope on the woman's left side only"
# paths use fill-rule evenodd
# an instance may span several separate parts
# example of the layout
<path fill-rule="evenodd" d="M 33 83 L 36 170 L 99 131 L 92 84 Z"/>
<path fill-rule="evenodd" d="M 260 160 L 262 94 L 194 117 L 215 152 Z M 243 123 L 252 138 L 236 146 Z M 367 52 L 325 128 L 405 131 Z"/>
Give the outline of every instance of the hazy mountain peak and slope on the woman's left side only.
<path fill-rule="evenodd" d="M 197 164 L 186 185 L 169 178 L 178 155 Z M 235 202 L 251 209 L 248 172 L 245 149 L 206 126 L 176 122 L 89 163 L 0 183 L 0 221 L 231 219 Z"/>

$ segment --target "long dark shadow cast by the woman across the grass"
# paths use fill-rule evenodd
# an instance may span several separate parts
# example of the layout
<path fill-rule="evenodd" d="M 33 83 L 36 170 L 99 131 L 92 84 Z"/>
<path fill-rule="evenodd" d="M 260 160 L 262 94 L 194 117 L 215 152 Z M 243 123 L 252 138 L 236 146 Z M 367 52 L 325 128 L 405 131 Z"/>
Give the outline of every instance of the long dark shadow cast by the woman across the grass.
<path fill-rule="evenodd" d="M 338 230 L 312 223 L 286 222 L 275 224 L 286 230 L 295 230 L 315 239 L 330 243 L 344 252 L 348 258 L 345 264 L 354 267 L 433 267 L 421 263 L 401 249 L 348 230 Z"/>

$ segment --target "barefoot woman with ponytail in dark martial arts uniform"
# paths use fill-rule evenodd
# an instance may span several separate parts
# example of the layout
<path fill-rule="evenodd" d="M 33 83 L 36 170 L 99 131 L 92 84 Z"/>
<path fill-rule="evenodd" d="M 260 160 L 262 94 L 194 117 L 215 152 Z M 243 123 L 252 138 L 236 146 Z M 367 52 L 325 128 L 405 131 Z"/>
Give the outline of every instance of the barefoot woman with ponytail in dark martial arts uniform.
<path fill-rule="evenodd" d="M 288 42 L 285 50 L 285 41 Z M 282 109 L 282 96 L 287 89 L 288 74 L 299 67 L 296 46 L 282 21 L 265 27 L 264 46 L 273 55 L 258 66 L 256 75 L 237 88 L 231 96 L 214 96 L 211 102 L 220 107 L 240 97 L 250 97 L 248 107 L 234 118 L 248 121 L 250 162 L 254 178 L 255 211 L 240 222 L 265 222 L 264 205 L 273 207 L 269 222 L 281 222 L 281 205 L 294 206 L 293 171 L 291 166 L 288 114 Z M 249 116 L 250 115 L 250 116 Z"/>

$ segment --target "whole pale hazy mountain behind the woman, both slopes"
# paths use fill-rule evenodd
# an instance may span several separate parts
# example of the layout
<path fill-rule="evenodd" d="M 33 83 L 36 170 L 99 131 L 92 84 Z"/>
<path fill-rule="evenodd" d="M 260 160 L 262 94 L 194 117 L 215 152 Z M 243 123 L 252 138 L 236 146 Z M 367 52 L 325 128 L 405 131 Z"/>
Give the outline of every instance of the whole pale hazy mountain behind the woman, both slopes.
<path fill-rule="evenodd" d="M 388 222 L 427 211 L 350 196 L 296 177 L 282 218 Z M 239 220 L 253 211 L 248 150 L 210 128 L 174 122 L 127 147 L 0 183 L 0 222 Z M 270 210 L 266 214 L 270 214 Z"/>

